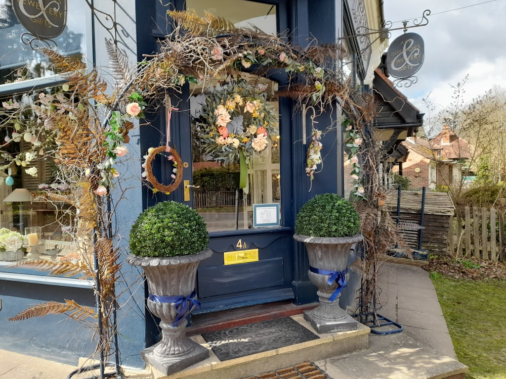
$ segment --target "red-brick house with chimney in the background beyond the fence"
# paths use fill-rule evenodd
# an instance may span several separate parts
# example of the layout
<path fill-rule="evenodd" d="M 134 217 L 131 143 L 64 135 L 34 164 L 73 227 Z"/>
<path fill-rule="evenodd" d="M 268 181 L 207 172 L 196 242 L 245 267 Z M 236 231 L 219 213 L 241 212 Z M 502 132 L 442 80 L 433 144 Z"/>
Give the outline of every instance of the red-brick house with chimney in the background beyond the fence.
<path fill-rule="evenodd" d="M 462 169 L 471 157 L 469 144 L 459 138 L 448 125 L 430 141 L 408 137 L 402 143 L 407 156 L 394 170 L 411 179 L 412 188 L 459 185 Z"/>

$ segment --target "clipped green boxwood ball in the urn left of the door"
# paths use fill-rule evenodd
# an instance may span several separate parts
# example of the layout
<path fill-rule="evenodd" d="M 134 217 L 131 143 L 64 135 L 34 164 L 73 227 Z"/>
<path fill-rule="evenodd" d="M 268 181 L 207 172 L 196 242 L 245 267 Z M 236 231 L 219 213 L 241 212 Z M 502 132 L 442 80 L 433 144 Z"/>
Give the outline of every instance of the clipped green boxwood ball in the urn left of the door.
<path fill-rule="evenodd" d="M 208 242 L 202 217 L 175 201 L 146 209 L 130 230 L 130 252 L 140 257 L 198 254 L 207 248 Z"/>

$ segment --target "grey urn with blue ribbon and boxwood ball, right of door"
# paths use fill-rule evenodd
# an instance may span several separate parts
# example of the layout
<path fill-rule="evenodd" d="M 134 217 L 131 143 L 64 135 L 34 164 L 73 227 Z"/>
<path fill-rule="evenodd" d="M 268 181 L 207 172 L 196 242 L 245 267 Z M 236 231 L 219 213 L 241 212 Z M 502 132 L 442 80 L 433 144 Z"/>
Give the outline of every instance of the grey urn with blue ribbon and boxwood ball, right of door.
<path fill-rule="evenodd" d="M 352 247 L 362 241 L 360 218 L 347 200 L 336 194 L 317 195 L 301 208 L 293 239 L 303 242 L 309 258 L 309 280 L 318 288 L 319 305 L 304 318 L 319 333 L 356 330 L 359 322 L 339 306 L 346 287 Z"/>

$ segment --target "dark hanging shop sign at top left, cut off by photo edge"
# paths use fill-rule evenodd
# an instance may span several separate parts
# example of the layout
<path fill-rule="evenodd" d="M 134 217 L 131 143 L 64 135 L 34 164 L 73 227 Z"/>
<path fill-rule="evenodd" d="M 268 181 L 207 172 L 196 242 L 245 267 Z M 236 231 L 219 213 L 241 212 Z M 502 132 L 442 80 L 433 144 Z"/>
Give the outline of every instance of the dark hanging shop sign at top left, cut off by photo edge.
<path fill-rule="evenodd" d="M 23 27 L 38 38 L 55 38 L 67 24 L 67 0 L 12 0 Z"/>

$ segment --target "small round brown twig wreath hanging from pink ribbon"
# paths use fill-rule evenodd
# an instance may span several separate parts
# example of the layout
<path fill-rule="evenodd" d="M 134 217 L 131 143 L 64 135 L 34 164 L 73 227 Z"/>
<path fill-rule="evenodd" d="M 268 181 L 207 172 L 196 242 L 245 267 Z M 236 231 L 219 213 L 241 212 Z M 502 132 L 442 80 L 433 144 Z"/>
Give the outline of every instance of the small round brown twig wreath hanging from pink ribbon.
<path fill-rule="evenodd" d="M 167 153 L 168 156 L 164 155 L 163 153 Z M 155 175 L 153 174 L 151 165 L 153 164 L 153 160 L 157 155 L 166 156 L 167 160 L 171 161 L 174 166 L 171 174 L 172 182 L 168 185 L 158 182 Z M 169 195 L 179 186 L 179 184 L 181 184 L 181 180 L 183 179 L 183 162 L 181 161 L 181 157 L 179 156 L 176 149 L 165 146 L 149 148 L 148 154 L 144 156 L 144 159 L 146 161 L 142 164 L 142 167 L 144 169 L 142 177 L 145 177 L 151 183 L 153 186 L 153 193 L 156 194 L 157 192 L 161 192 L 165 195 Z"/>

